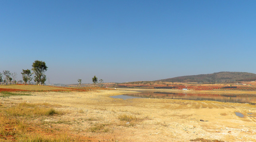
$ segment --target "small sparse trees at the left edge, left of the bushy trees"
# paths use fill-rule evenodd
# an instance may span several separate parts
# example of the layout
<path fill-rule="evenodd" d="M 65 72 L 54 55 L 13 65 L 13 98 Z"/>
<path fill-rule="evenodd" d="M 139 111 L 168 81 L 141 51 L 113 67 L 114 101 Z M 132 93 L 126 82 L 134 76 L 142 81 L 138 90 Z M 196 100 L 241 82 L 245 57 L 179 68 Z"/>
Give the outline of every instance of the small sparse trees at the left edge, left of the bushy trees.
<path fill-rule="evenodd" d="M 11 73 L 10 71 L 3 71 L 0 73 L 0 84 L 15 84 L 17 78 L 17 73 Z"/>

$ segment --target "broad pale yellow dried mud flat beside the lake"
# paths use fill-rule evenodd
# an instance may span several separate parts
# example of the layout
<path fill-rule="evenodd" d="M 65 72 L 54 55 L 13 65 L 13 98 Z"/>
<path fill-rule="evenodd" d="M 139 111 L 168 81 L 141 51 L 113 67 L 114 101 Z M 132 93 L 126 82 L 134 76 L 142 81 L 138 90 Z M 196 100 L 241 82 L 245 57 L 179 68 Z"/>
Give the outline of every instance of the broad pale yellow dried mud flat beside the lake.
<path fill-rule="evenodd" d="M 126 90 L 33 92 L 1 98 L 3 104 L 49 103 L 64 115 L 43 120 L 85 141 L 255 142 L 256 106 L 215 101 L 114 99 Z M 130 92 L 129 92 L 130 93 Z M 240 112 L 244 117 L 239 117 Z M 201 121 L 200 121 L 201 120 Z"/>

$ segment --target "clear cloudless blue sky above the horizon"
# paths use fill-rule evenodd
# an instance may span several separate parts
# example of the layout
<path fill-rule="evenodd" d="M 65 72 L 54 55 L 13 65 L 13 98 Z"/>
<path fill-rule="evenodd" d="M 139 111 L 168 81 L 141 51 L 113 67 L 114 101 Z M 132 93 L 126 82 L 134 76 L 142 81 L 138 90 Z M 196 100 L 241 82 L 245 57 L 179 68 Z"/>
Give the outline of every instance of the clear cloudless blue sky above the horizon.
<path fill-rule="evenodd" d="M 256 73 L 255 0 L 0 0 L 0 72 L 52 83 Z M 46 83 L 49 81 L 46 80 Z"/>

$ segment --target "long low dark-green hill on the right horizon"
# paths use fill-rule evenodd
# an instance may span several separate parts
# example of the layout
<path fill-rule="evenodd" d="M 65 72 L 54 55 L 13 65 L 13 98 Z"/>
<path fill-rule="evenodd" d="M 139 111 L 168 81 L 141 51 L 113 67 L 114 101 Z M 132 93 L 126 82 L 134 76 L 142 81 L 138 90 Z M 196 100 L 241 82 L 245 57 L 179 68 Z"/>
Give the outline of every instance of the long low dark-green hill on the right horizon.
<path fill-rule="evenodd" d="M 219 72 L 204 75 L 189 75 L 157 81 L 166 82 L 238 82 L 256 80 L 256 74 L 244 72 Z"/>

